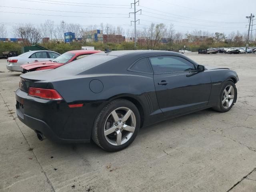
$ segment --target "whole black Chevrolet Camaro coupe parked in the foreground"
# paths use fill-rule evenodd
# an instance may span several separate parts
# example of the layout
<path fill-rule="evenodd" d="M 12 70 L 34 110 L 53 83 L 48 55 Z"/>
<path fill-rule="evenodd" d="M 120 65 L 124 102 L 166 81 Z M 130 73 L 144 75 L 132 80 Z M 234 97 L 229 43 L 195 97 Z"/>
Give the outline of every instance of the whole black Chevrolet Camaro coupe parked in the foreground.
<path fill-rule="evenodd" d="M 18 118 L 57 142 L 90 142 L 108 151 L 132 143 L 142 126 L 236 102 L 238 76 L 169 51 L 113 51 L 54 70 L 22 74 Z"/>

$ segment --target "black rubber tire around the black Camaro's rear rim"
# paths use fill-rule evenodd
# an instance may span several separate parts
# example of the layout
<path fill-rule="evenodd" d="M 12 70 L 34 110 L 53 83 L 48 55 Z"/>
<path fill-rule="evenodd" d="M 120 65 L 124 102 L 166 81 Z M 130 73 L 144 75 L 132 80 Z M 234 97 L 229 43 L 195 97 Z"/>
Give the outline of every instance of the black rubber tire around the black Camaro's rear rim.
<path fill-rule="evenodd" d="M 130 110 L 132 110 L 132 112 L 134 113 L 135 118 L 136 118 L 136 126 L 135 126 L 135 130 L 134 130 L 132 136 L 130 137 L 130 139 L 127 142 L 125 142 L 124 144 L 121 144 L 121 145 L 112 145 L 105 138 L 104 126 L 105 126 L 105 122 L 106 122 L 107 118 L 110 116 L 111 112 L 120 107 L 129 108 Z M 101 112 L 98 114 L 98 116 L 96 117 L 96 120 L 94 123 L 94 128 L 92 130 L 92 140 L 98 146 L 100 146 L 102 149 L 104 149 L 106 151 L 109 151 L 109 152 L 119 151 L 119 150 L 126 148 L 134 141 L 134 139 L 136 138 L 136 136 L 138 134 L 139 129 L 140 129 L 140 112 L 138 111 L 136 106 L 128 100 L 117 99 L 117 100 L 113 100 L 112 102 L 107 104 L 101 110 Z"/>

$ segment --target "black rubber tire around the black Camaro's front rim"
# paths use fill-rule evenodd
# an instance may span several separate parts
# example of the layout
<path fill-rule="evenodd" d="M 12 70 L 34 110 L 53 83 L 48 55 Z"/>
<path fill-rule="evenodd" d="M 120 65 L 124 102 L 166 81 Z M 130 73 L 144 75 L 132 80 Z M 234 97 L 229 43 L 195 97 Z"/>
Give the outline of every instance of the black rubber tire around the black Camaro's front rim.
<path fill-rule="evenodd" d="M 230 106 L 228 108 L 224 108 L 224 106 L 222 104 L 222 96 L 223 96 L 224 89 L 229 85 L 231 85 L 234 89 L 234 99 L 232 101 L 232 104 L 230 104 Z M 236 100 L 236 96 L 237 96 L 236 85 L 234 84 L 234 82 L 232 80 L 226 81 L 223 84 L 222 89 L 220 91 L 218 105 L 214 106 L 212 109 L 214 109 L 218 112 L 227 112 L 227 111 L 229 111 L 232 108 L 232 106 L 234 105 L 234 102 Z"/>

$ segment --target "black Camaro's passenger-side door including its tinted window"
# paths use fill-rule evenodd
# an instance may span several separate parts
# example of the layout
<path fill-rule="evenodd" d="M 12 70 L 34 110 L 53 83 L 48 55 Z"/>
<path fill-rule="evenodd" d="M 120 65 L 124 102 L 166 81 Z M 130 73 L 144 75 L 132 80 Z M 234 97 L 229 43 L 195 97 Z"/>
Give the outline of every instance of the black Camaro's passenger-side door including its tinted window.
<path fill-rule="evenodd" d="M 207 72 L 198 72 L 196 64 L 181 56 L 154 56 L 149 60 L 154 71 L 158 104 L 164 116 L 208 104 L 211 79 Z"/>

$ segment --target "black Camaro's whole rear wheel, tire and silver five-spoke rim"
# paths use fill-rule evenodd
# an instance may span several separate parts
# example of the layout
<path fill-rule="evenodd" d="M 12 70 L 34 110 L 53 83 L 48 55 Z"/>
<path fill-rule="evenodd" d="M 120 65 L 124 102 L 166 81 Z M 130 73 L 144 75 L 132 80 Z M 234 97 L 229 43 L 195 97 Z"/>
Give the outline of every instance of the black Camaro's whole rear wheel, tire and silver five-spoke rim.
<path fill-rule="evenodd" d="M 118 99 L 105 106 L 96 118 L 92 139 L 107 151 L 118 151 L 130 145 L 140 128 L 140 113 L 136 106 Z"/>

